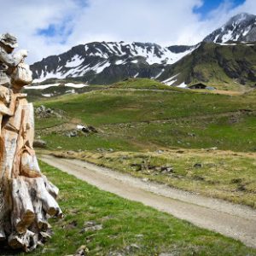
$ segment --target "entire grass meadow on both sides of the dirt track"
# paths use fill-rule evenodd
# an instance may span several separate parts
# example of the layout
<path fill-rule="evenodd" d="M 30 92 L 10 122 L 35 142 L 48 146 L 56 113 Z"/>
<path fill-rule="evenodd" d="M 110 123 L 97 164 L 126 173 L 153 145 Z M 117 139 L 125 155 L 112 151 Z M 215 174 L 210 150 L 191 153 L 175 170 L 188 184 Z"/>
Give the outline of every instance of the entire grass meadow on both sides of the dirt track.
<path fill-rule="evenodd" d="M 221 95 L 128 79 L 103 90 L 35 102 L 35 107 L 63 113 L 37 117 L 36 137 L 55 154 L 69 151 L 135 177 L 255 208 L 255 96 L 255 91 Z M 72 125 L 93 125 L 97 133 L 67 137 Z M 30 255 L 68 255 L 81 245 L 88 255 L 256 255 L 239 241 L 40 164 L 61 189 L 65 218 L 52 221 L 52 240 Z M 143 169 L 138 172 L 134 164 Z M 150 165 L 172 166 L 173 172 L 151 172 Z M 88 221 L 102 230 L 84 232 Z"/>

